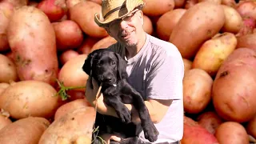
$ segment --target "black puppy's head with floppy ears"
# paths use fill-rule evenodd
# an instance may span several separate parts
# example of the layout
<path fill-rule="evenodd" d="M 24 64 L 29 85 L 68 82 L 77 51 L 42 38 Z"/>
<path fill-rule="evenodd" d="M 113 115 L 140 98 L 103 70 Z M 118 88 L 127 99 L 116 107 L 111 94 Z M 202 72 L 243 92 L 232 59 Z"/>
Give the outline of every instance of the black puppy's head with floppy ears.
<path fill-rule="evenodd" d="M 125 78 L 126 61 L 113 51 L 99 49 L 88 55 L 82 69 L 96 81 L 114 85 Z"/>

